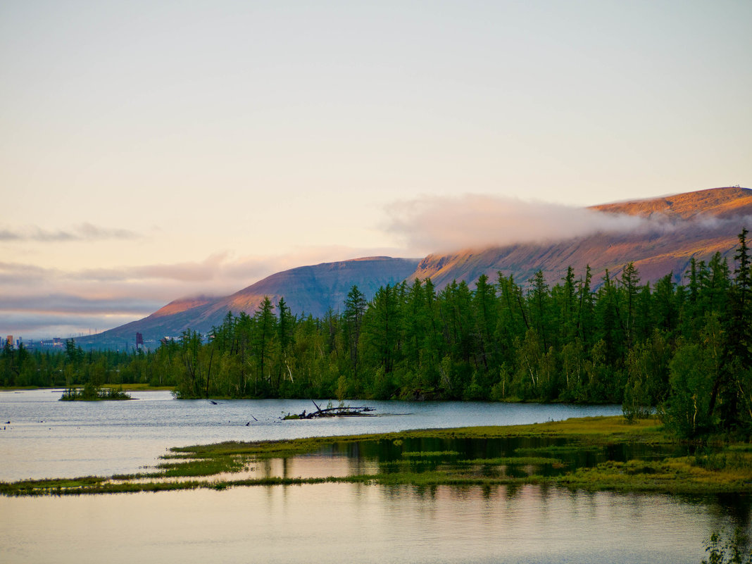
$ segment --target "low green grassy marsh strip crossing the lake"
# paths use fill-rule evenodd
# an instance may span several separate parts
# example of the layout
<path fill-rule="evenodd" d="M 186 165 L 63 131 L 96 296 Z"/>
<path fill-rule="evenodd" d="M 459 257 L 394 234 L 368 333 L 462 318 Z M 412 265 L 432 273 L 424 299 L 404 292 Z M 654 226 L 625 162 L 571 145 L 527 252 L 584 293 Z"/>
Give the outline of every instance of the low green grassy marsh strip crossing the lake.
<path fill-rule="evenodd" d="M 482 444 L 490 450 L 496 448 L 499 456 L 475 456 L 468 450 L 462 451 L 474 444 Z M 499 450 L 499 444 L 506 446 Z M 248 477 L 249 468 L 265 459 L 312 453 L 347 456 L 353 449 L 361 456 L 377 460 L 368 468 L 378 469 L 347 476 Z M 609 454 L 632 451 L 640 454 L 626 459 Z M 575 462 L 583 459 L 594 462 Z M 750 493 L 752 446 L 681 444 L 667 435 L 656 419 L 629 424 L 623 417 L 587 417 L 524 426 L 429 429 L 180 447 L 163 456 L 153 472 L 0 483 L 0 493 L 39 496 L 323 482 L 420 487 L 546 484 L 591 491 Z"/>

